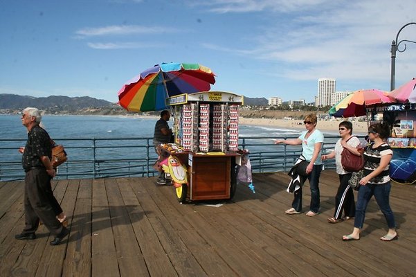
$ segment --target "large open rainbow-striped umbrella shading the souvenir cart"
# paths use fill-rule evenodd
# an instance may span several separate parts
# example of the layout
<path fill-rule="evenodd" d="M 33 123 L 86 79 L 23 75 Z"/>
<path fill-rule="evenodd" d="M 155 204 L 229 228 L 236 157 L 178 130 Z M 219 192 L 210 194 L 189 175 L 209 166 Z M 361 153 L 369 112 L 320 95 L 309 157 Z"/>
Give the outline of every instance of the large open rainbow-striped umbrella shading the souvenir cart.
<path fill-rule="evenodd" d="M 118 103 L 127 111 L 161 111 L 166 98 L 209 91 L 210 84 L 215 84 L 215 74 L 201 64 L 156 64 L 123 85 Z"/>

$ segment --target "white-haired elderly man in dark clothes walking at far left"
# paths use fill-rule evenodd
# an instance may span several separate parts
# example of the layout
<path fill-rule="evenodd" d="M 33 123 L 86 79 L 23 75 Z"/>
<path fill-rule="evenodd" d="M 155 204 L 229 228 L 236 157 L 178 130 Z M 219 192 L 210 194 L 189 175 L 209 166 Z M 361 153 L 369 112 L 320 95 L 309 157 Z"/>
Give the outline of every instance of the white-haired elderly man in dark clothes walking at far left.
<path fill-rule="evenodd" d="M 21 123 L 28 129 L 28 140 L 21 164 L 26 172 L 24 188 L 25 227 L 17 240 L 35 240 L 35 231 L 42 220 L 46 228 L 55 235 L 50 242 L 57 245 L 69 234 L 69 230 L 57 220 L 47 195 L 51 179 L 55 176 L 52 167 L 52 143 L 48 133 L 39 127 L 42 116 L 38 109 L 27 107 L 21 116 Z"/>

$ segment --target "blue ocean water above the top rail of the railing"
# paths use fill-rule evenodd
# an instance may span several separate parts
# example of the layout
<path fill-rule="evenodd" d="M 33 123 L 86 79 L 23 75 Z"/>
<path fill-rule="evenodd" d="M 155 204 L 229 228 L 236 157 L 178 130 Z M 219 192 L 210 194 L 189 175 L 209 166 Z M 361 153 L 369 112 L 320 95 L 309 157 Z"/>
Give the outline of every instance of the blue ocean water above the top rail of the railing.
<path fill-rule="evenodd" d="M 54 139 L 109 139 L 152 137 L 158 118 L 126 116 L 43 116 L 42 123 Z M 172 121 L 169 122 L 172 126 Z M 0 115 L 0 139 L 26 139 L 26 127 L 18 115 Z M 239 125 L 239 136 L 269 137 L 296 136 L 302 130 Z"/>

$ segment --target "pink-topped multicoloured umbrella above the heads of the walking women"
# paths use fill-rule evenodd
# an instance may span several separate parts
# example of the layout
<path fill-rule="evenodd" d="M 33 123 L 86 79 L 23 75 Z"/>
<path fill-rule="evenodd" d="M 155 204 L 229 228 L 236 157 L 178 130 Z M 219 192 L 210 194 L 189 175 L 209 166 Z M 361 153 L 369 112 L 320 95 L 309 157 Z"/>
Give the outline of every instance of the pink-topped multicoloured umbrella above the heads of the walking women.
<path fill-rule="evenodd" d="M 379 89 L 362 89 L 348 94 L 341 101 L 329 109 L 329 116 L 352 117 L 365 116 L 366 107 L 395 102 L 388 97 L 387 91 Z"/>

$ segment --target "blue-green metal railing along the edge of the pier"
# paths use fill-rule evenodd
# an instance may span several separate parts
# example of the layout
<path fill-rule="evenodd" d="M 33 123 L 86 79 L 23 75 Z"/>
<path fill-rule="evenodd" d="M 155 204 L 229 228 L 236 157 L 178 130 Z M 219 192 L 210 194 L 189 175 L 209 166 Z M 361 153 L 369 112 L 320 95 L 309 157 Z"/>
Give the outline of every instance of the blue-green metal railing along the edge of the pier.
<path fill-rule="evenodd" d="M 281 136 L 294 139 L 297 136 Z M 323 153 L 334 149 L 338 136 L 325 136 Z M 289 171 L 300 156 L 300 145 L 275 145 L 269 137 L 239 138 L 239 148 L 249 151 L 253 172 Z M 68 154 L 68 161 L 57 171 L 57 179 L 152 177 L 157 156 L 152 138 L 55 139 Z M 0 181 L 24 179 L 21 154 L 17 149 L 25 139 L 0 139 Z M 334 160 L 325 161 L 325 168 L 334 168 Z"/>

